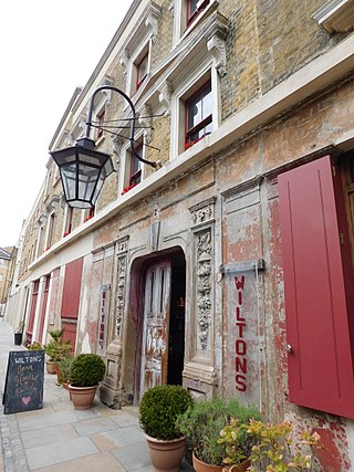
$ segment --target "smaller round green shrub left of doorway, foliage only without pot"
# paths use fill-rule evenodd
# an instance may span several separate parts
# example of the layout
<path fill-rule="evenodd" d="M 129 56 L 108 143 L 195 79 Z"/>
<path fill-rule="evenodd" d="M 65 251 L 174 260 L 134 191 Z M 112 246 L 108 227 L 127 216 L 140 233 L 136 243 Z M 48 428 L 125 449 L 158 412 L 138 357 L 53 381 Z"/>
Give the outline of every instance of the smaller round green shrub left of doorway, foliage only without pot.
<path fill-rule="evenodd" d="M 105 370 L 97 354 L 80 354 L 71 365 L 69 380 L 74 387 L 92 387 L 103 380 Z"/>

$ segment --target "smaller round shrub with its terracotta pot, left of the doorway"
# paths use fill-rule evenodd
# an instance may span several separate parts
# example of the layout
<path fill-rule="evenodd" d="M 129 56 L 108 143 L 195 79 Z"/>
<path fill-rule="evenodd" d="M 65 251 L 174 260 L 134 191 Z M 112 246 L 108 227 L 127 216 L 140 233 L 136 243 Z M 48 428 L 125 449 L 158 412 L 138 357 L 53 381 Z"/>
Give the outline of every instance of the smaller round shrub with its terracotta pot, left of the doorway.
<path fill-rule="evenodd" d="M 69 374 L 69 390 L 76 410 L 92 407 L 105 370 L 104 360 L 98 354 L 80 354 L 74 357 Z"/>

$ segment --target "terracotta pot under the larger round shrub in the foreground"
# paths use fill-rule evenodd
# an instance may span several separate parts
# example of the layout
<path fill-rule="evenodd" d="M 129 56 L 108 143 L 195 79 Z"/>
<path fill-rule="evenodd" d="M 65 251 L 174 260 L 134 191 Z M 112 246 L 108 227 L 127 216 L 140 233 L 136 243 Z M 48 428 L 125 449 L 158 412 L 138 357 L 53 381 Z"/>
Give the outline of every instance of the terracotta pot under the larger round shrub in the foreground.
<path fill-rule="evenodd" d="M 186 438 L 163 441 L 145 434 L 150 460 L 156 472 L 178 472 L 185 455 Z"/>

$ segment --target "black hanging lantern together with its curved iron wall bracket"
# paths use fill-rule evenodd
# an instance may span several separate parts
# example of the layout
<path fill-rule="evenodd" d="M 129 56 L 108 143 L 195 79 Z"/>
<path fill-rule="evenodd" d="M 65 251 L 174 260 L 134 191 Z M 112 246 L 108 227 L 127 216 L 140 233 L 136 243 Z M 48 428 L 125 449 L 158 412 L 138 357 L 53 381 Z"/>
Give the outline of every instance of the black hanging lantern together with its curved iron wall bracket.
<path fill-rule="evenodd" d="M 79 139 L 73 147 L 50 153 L 60 169 L 65 200 L 73 208 L 93 208 L 105 178 L 114 170 L 111 156 L 96 150 L 94 140 L 90 138 L 94 97 L 96 93 L 103 90 L 117 92 L 128 102 L 132 112 L 132 118 L 129 118 L 132 153 L 140 161 L 156 167 L 156 162 L 143 159 L 135 150 L 136 113 L 133 102 L 119 88 L 112 85 L 102 85 L 94 91 L 90 99 L 85 136 Z"/>

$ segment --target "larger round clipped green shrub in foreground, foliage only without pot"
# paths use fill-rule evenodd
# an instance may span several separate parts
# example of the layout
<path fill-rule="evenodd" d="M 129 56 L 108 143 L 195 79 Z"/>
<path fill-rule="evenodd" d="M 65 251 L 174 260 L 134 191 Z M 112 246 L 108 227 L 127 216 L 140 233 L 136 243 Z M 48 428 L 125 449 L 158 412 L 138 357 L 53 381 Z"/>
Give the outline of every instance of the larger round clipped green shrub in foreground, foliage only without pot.
<path fill-rule="evenodd" d="M 143 395 L 139 406 L 140 427 L 155 439 L 179 438 L 183 434 L 176 427 L 177 415 L 185 412 L 191 405 L 189 391 L 181 386 L 156 386 Z"/>

